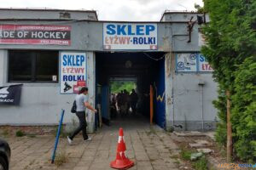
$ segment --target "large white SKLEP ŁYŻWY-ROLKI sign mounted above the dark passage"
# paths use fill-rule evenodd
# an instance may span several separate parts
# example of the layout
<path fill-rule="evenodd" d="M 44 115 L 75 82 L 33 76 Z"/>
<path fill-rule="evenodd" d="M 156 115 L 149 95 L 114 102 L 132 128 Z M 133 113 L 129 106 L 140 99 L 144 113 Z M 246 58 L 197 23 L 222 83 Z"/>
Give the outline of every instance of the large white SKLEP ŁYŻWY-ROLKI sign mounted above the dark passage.
<path fill-rule="evenodd" d="M 157 49 L 157 24 L 104 23 L 104 49 Z"/>

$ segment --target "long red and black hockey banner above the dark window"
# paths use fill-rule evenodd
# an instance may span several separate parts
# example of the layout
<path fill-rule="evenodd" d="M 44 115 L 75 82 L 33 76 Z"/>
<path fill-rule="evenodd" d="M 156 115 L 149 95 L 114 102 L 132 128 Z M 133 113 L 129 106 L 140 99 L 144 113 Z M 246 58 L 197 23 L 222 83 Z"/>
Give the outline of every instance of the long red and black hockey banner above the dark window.
<path fill-rule="evenodd" d="M 71 26 L 0 25 L 0 44 L 70 45 Z"/>

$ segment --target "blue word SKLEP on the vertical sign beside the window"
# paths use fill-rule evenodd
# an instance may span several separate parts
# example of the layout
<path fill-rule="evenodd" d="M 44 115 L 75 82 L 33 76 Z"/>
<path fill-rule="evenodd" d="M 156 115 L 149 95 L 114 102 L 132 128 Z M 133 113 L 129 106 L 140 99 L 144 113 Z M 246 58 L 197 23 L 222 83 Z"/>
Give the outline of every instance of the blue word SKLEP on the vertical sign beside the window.
<path fill-rule="evenodd" d="M 62 57 L 62 65 L 64 66 L 81 66 L 85 61 L 84 55 L 66 55 Z"/>

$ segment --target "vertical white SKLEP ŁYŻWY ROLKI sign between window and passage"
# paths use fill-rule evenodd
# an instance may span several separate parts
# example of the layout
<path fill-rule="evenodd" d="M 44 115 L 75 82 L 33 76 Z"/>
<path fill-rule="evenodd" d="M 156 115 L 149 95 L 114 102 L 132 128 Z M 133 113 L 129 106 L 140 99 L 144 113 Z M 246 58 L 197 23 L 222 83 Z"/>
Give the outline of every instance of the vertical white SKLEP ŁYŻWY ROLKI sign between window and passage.
<path fill-rule="evenodd" d="M 86 86 L 87 57 L 85 53 L 61 52 L 61 94 L 76 94 Z"/>

